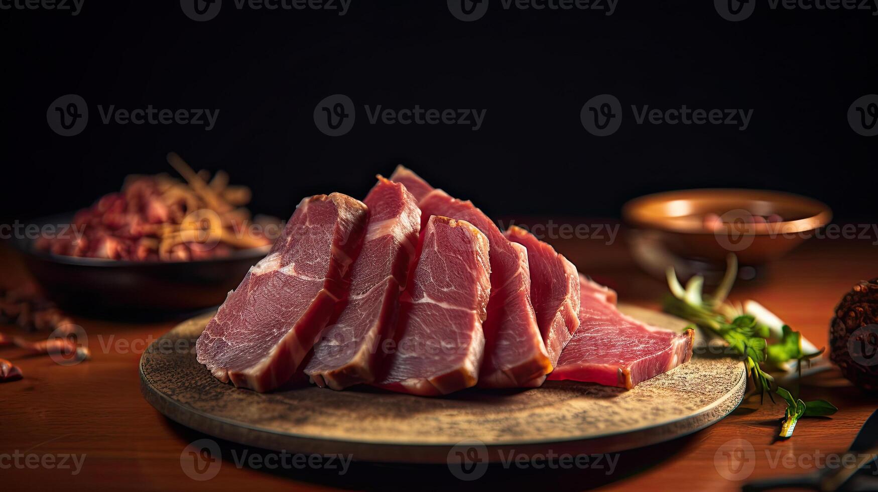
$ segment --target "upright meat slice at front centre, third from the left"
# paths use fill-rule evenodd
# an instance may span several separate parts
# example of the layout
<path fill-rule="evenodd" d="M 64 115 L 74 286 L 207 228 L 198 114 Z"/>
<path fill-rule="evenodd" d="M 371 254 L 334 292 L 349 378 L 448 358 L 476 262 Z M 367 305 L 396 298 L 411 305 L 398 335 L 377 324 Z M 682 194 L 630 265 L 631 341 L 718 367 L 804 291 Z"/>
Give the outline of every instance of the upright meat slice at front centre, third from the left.
<path fill-rule="evenodd" d="M 485 349 L 488 240 L 469 222 L 430 217 L 399 301 L 394 353 L 376 386 L 433 396 L 471 387 Z"/>

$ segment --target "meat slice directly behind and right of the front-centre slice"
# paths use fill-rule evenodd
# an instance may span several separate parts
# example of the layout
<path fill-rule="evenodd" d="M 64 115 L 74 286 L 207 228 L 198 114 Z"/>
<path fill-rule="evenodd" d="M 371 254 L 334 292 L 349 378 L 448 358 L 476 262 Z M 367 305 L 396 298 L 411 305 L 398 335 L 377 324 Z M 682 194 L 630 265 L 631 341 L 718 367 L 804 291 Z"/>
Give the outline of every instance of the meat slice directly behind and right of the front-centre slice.
<path fill-rule="evenodd" d="M 430 215 L 468 221 L 491 245 L 491 300 L 485 321 L 485 360 L 479 387 L 535 387 L 552 365 L 530 304 L 527 250 L 509 242 L 485 213 L 470 201 L 442 190 L 421 200 L 421 222 Z"/>

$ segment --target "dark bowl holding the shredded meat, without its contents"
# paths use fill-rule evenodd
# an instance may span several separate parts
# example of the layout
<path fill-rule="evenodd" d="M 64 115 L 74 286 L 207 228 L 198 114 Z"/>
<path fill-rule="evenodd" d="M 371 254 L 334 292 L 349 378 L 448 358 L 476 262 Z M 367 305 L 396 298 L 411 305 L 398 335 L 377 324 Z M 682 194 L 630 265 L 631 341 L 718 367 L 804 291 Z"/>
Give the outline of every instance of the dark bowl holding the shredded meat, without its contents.
<path fill-rule="evenodd" d="M 70 215 L 33 223 L 68 224 Z M 32 239 L 13 241 L 49 300 L 72 313 L 113 318 L 161 319 L 217 306 L 270 250 L 188 262 L 134 262 L 54 255 L 36 250 Z"/>

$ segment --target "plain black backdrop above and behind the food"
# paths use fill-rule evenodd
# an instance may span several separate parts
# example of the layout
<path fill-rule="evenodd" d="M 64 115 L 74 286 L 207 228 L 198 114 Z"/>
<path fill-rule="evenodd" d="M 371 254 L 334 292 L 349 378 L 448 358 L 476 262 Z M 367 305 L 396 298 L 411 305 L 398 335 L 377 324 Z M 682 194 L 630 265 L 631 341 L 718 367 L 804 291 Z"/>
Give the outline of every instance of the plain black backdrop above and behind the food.
<path fill-rule="evenodd" d="M 225 169 L 256 212 L 289 216 L 303 196 L 362 198 L 396 163 L 492 215 L 615 217 L 647 192 L 723 186 L 822 199 L 838 221 L 874 215 L 878 137 L 846 120 L 878 92 L 871 11 L 772 11 L 729 22 L 712 2 L 620 0 L 602 11 L 505 11 L 462 22 L 444 1 L 353 0 L 337 11 L 238 11 L 208 22 L 179 2 L 85 0 L 76 17 L 0 11 L 3 220 L 90 205 L 129 173 Z M 47 107 L 89 105 L 61 137 Z M 314 106 L 353 99 L 357 122 L 321 134 Z M 579 122 L 601 93 L 623 104 L 604 138 Z M 363 105 L 486 108 L 483 127 L 368 125 Z M 752 109 L 750 127 L 635 125 L 630 105 Z M 219 109 L 212 131 L 103 125 L 97 105 Z"/>

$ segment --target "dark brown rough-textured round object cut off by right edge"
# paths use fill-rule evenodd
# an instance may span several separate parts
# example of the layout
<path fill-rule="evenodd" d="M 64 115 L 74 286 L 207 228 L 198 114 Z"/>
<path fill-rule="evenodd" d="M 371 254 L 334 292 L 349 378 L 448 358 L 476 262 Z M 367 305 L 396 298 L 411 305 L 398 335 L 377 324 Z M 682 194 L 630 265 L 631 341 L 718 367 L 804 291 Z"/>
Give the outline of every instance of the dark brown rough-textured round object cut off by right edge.
<path fill-rule="evenodd" d="M 830 359 L 853 384 L 878 391 L 878 279 L 860 282 L 835 308 Z"/>

